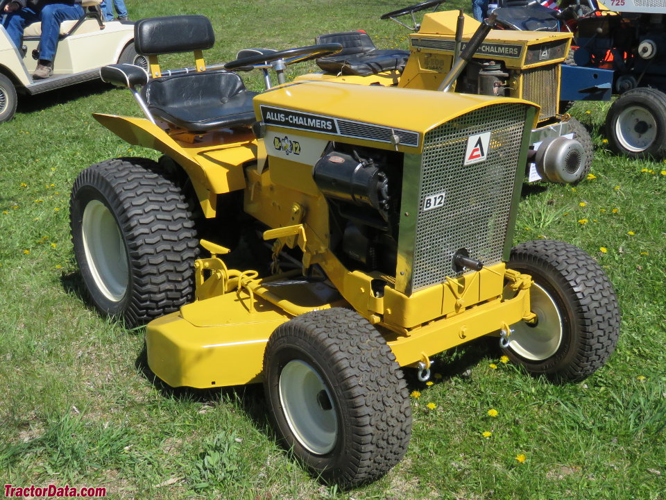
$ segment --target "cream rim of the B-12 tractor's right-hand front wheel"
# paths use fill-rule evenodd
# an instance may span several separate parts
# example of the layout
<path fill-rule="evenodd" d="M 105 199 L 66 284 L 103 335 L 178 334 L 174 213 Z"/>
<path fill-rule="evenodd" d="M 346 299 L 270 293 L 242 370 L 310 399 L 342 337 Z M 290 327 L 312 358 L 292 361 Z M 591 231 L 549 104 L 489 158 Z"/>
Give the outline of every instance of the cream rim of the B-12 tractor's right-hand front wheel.
<path fill-rule="evenodd" d="M 525 322 L 511 326 L 509 349 L 531 361 L 543 361 L 560 347 L 563 327 L 562 317 L 555 301 L 540 285 L 534 283 L 529 288 L 529 303 L 538 317 L 536 325 Z"/>

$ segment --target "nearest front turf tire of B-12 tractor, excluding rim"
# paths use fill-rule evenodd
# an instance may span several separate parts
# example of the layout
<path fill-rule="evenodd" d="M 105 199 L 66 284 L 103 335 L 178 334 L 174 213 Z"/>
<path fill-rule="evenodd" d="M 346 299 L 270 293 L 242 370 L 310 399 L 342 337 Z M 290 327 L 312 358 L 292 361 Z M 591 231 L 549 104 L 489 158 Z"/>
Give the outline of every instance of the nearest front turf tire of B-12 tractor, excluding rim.
<path fill-rule="evenodd" d="M 280 370 L 300 357 L 318 367 L 341 410 L 338 443 L 323 456 L 299 444 L 280 410 Z M 306 313 L 278 327 L 264 354 L 264 388 L 282 444 L 326 483 L 344 488 L 370 483 L 407 451 L 407 383 L 382 335 L 353 310 Z"/>

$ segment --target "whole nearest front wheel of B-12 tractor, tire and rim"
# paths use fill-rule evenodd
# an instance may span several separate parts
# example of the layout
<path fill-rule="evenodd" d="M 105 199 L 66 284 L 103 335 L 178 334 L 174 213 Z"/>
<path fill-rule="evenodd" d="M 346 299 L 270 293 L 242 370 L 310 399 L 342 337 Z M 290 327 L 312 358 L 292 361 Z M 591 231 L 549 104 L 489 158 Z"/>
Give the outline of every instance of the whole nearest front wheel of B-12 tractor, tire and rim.
<path fill-rule="evenodd" d="M 327 483 L 374 481 L 407 451 L 407 384 L 382 335 L 355 311 L 279 326 L 264 353 L 264 389 L 284 447 Z"/>

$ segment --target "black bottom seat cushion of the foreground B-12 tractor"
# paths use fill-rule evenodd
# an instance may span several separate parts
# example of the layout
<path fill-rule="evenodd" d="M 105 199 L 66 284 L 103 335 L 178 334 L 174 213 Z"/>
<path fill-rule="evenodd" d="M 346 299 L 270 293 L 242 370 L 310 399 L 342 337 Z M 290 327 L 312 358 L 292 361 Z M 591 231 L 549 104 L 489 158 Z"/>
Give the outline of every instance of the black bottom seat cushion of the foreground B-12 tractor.
<path fill-rule="evenodd" d="M 156 117 L 189 131 L 251 125 L 256 121 L 252 99 L 240 76 L 223 70 L 164 76 L 142 89 Z"/>

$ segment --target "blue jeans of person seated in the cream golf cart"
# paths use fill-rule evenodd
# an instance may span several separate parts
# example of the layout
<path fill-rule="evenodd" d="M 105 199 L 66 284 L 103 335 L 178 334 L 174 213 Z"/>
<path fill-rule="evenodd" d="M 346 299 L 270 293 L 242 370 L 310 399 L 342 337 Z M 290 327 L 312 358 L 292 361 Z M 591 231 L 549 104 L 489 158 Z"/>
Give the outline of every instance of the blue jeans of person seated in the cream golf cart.
<path fill-rule="evenodd" d="M 40 59 L 53 61 L 58 48 L 60 23 L 70 19 L 79 19 L 83 16 L 80 5 L 67 5 L 66 3 L 51 3 L 44 6 L 40 12 L 31 8 L 22 8 L 10 12 L 3 19 L 2 26 L 7 30 L 17 49 L 21 50 L 23 31 L 28 24 L 42 23 L 42 38 L 40 40 Z"/>

